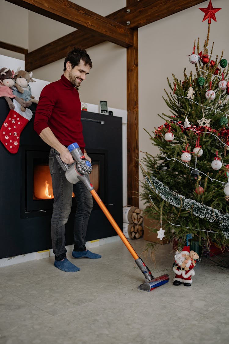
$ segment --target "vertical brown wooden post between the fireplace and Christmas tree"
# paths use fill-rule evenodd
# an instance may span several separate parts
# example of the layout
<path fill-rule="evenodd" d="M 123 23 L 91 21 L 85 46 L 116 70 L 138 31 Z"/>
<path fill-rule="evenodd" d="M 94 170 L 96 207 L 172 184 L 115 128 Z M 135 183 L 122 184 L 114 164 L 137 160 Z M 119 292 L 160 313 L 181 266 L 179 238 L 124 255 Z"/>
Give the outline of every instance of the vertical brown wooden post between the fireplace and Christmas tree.
<path fill-rule="evenodd" d="M 136 0 L 127 0 L 127 6 Z M 138 29 L 134 44 L 127 48 L 127 202 L 139 206 L 138 146 Z"/>

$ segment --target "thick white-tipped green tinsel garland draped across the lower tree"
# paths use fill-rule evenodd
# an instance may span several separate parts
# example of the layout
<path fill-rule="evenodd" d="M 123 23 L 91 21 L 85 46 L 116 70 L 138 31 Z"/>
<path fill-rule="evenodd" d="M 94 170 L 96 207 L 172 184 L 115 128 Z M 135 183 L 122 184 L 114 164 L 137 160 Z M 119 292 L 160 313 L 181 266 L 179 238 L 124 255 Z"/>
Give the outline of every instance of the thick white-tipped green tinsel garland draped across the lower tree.
<path fill-rule="evenodd" d="M 190 198 L 185 198 L 182 195 L 176 194 L 165 186 L 152 174 L 145 176 L 145 181 L 149 187 L 154 190 L 161 198 L 175 207 L 181 207 L 187 211 L 191 211 L 194 215 L 200 218 L 206 218 L 209 222 L 219 223 L 219 228 L 226 239 L 229 239 L 229 214 L 222 214 L 219 210 L 208 207 Z"/>

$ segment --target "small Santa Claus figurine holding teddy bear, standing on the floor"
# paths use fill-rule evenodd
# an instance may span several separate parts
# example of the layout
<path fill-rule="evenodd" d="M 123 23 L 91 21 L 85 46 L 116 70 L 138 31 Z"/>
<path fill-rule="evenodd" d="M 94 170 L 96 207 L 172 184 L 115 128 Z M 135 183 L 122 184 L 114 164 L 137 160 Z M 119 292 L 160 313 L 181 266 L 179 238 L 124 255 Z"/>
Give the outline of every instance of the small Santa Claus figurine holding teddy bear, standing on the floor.
<path fill-rule="evenodd" d="M 192 276 L 195 275 L 193 270 L 196 265 L 196 260 L 199 256 L 196 252 L 191 251 L 190 247 L 185 246 L 182 251 L 176 251 L 173 264 L 173 271 L 175 272 L 175 278 L 173 281 L 174 286 L 179 286 L 181 283 L 185 287 L 190 287 L 192 283 Z"/>

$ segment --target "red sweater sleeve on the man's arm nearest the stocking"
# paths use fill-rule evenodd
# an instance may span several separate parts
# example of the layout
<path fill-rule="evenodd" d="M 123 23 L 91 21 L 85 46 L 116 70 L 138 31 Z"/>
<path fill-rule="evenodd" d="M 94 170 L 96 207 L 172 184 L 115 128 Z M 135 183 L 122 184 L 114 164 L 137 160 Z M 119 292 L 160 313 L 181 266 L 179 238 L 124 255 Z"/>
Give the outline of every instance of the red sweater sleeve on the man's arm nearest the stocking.
<path fill-rule="evenodd" d="M 34 130 L 38 135 L 43 129 L 48 128 L 48 120 L 52 115 L 56 103 L 56 92 L 53 85 L 46 85 L 39 97 L 34 117 Z"/>

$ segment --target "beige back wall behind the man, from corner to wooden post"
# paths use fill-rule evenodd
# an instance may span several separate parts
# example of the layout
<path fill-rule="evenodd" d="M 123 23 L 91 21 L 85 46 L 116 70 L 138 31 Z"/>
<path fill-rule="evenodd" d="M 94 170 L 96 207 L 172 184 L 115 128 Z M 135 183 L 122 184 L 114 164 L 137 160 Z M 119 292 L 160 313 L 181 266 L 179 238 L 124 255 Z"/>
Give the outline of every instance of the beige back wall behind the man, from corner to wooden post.
<path fill-rule="evenodd" d="M 107 15 L 122 7 L 125 0 L 75 0 L 80 6 L 100 15 Z M 37 30 L 39 26 L 40 31 Z M 29 47 L 30 51 L 47 44 L 72 31 L 67 25 L 29 12 Z M 72 44 L 74 47 L 74 42 Z M 110 42 L 104 42 L 87 50 L 93 68 L 87 81 L 80 87 L 80 99 L 85 103 L 99 104 L 107 100 L 109 107 L 126 109 L 126 49 Z M 33 71 L 37 79 L 50 82 L 59 79 L 63 72 L 64 59 Z"/>

